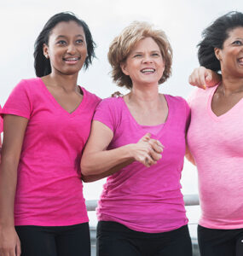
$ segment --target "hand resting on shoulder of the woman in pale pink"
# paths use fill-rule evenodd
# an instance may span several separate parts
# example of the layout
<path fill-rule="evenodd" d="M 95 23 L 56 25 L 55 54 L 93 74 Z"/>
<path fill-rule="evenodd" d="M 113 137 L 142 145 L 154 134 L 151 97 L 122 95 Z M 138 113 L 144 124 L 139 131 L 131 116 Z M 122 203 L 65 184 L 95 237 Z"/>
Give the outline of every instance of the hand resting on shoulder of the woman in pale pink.
<path fill-rule="evenodd" d="M 197 67 L 189 76 L 188 82 L 205 90 L 206 87 L 212 87 L 221 81 L 221 75 L 205 67 Z"/>

